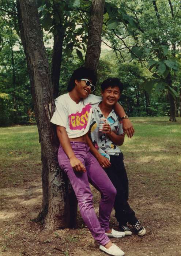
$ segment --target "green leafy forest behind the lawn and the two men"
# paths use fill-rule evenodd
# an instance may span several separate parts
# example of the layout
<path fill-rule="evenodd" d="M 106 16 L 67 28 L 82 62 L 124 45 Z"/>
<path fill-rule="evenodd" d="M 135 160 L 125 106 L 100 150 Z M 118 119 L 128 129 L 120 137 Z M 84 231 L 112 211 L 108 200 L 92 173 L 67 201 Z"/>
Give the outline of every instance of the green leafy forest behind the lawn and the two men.
<path fill-rule="evenodd" d="M 33 124 L 16 1 L 0 2 L 0 126 Z M 60 68 L 59 81 L 52 80 L 58 83 L 56 97 L 66 92 L 72 71 L 84 64 L 91 1 L 38 0 L 38 7 L 52 74 Z M 59 59 L 53 54 L 56 42 Z M 118 77 L 124 84 L 120 103 L 128 116 L 176 121 L 181 116 L 180 44 L 181 1 L 106 1 L 95 94 L 104 79 Z"/>

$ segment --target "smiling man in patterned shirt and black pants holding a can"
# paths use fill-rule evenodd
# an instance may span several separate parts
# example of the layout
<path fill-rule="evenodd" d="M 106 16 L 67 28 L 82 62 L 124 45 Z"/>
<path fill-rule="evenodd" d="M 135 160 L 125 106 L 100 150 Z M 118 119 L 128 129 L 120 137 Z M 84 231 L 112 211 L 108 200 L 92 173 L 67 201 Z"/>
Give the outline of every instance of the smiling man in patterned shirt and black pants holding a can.
<path fill-rule="evenodd" d="M 101 84 L 102 101 L 94 105 L 90 125 L 91 140 L 87 136 L 87 144 L 117 190 L 114 210 L 121 231 L 124 231 L 125 235 L 131 235 L 131 229 L 127 226 L 129 223 L 136 234 L 144 236 L 146 229 L 140 224 L 135 217 L 135 212 L 128 204 L 128 178 L 123 154 L 118 147 L 124 142 L 124 132 L 122 120 L 113 108 L 120 98 L 122 89 L 122 83 L 117 78 L 106 79 Z M 101 131 L 99 129 L 100 118 L 106 118 L 106 124 L 103 125 Z"/>

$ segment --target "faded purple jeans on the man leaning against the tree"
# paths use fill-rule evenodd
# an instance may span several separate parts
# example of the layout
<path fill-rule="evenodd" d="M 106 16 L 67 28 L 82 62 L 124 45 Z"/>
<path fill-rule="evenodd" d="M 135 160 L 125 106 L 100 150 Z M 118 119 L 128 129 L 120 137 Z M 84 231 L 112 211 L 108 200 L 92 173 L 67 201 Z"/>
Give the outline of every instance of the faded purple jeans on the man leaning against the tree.
<path fill-rule="evenodd" d="M 86 167 L 86 172 L 80 173 L 72 169 L 69 158 L 61 146 L 58 152 L 59 165 L 68 175 L 72 184 L 85 224 L 91 231 L 94 239 L 99 244 L 105 245 L 110 241 L 105 231 L 109 230 L 109 218 L 116 196 L 116 189 L 99 165 L 97 159 L 90 153 L 90 148 L 86 143 L 71 142 L 71 146 L 76 158 Z M 101 193 L 99 221 L 94 211 L 93 195 L 89 182 Z"/>

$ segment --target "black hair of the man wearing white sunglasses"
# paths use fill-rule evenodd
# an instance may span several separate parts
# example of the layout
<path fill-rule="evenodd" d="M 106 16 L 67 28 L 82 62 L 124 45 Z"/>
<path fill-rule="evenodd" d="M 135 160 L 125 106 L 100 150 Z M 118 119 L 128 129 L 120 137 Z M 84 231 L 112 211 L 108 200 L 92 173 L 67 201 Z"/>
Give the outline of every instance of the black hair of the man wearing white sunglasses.
<path fill-rule="evenodd" d="M 94 71 L 90 68 L 80 67 L 78 69 L 75 69 L 73 71 L 73 74 L 71 76 L 71 79 L 68 83 L 67 91 L 72 91 L 75 87 L 75 80 L 81 80 L 82 78 L 90 79 L 93 83 L 93 85 L 97 82 L 97 77 Z"/>

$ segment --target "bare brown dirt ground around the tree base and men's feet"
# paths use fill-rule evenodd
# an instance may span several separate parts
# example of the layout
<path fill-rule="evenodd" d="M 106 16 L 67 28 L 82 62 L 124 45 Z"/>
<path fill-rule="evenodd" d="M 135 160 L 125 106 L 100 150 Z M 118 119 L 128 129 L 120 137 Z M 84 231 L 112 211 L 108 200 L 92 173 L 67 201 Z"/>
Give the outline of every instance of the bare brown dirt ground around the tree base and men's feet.
<path fill-rule="evenodd" d="M 92 188 L 98 212 L 99 193 Z M 1 252 L 2 256 L 30 255 L 105 255 L 99 251 L 78 216 L 78 229 L 42 231 L 41 225 L 32 221 L 41 207 L 41 181 L 26 182 L 22 187 L 1 189 Z M 178 256 L 181 255 L 180 205 L 162 203 L 151 195 L 133 199 L 131 206 L 144 224 L 147 234 L 135 234 L 122 239 L 112 239 L 125 251 L 126 256 Z M 118 229 L 114 211 L 111 226 Z"/>

